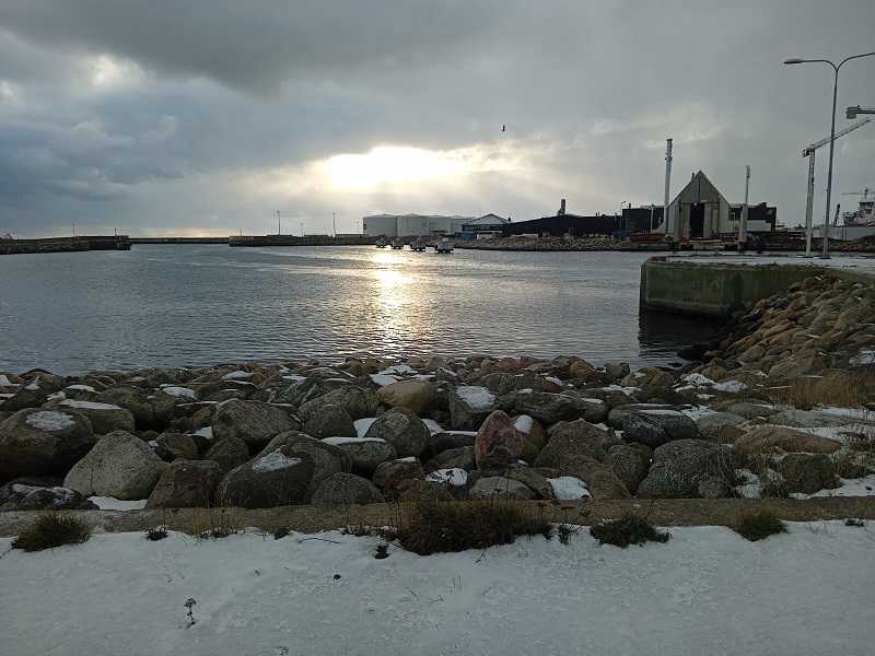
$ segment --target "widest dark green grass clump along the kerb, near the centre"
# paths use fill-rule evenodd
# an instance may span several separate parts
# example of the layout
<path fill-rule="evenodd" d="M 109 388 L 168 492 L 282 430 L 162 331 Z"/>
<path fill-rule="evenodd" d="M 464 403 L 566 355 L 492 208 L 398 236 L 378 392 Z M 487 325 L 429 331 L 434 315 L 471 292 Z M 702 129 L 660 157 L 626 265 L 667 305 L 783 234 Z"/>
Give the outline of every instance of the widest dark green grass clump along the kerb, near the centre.
<path fill-rule="evenodd" d="M 406 508 L 397 539 L 420 555 L 510 544 L 520 536 L 549 539 L 552 526 L 505 503 L 420 502 Z"/>

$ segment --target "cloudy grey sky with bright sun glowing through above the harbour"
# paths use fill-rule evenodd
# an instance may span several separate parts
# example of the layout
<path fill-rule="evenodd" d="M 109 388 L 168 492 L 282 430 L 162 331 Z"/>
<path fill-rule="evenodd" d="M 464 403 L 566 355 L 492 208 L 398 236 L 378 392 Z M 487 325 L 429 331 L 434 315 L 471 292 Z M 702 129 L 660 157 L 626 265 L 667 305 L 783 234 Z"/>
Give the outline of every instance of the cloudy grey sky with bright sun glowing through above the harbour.
<path fill-rule="evenodd" d="M 872 0 L 0 0 L 0 234 L 614 213 L 662 203 L 666 138 L 673 197 L 702 169 L 740 202 L 749 164 L 793 224 L 833 72 L 782 62 L 873 50 Z M 873 81 L 841 69 L 837 130 Z M 875 120 L 837 142 L 833 206 L 866 186 Z"/>

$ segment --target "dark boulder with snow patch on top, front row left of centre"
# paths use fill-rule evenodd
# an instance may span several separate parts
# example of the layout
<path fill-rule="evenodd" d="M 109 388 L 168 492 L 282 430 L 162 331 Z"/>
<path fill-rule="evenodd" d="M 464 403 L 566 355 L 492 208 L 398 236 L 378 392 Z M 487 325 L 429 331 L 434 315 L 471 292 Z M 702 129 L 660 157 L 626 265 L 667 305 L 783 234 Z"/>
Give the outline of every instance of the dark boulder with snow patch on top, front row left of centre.
<path fill-rule="evenodd" d="M 220 505 L 270 508 L 308 501 L 313 458 L 282 445 L 229 471 L 215 489 Z"/>

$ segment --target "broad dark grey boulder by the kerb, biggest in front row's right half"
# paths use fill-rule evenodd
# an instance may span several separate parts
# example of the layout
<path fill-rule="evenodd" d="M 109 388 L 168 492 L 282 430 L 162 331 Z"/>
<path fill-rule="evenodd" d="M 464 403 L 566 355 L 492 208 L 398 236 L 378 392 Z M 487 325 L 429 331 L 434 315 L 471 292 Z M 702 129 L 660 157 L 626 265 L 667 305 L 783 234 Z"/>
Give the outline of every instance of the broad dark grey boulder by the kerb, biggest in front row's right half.
<path fill-rule="evenodd" d="M 733 496 L 740 456 L 731 446 L 701 440 L 676 440 L 653 452 L 639 497 L 716 499 Z"/>

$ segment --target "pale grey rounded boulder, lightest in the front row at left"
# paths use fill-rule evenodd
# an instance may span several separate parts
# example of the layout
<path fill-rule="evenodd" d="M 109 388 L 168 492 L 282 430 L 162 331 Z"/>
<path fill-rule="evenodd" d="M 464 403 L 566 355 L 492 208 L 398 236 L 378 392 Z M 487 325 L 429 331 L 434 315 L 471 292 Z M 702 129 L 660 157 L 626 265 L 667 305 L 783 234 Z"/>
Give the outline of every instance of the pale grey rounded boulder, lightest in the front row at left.
<path fill-rule="evenodd" d="M 104 435 L 63 479 L 63 487 L 85 496 L 148 499 L 167 464 L 130 433 Z"/>

